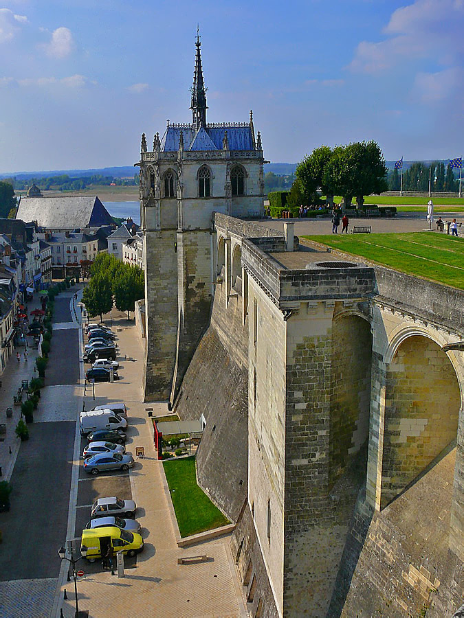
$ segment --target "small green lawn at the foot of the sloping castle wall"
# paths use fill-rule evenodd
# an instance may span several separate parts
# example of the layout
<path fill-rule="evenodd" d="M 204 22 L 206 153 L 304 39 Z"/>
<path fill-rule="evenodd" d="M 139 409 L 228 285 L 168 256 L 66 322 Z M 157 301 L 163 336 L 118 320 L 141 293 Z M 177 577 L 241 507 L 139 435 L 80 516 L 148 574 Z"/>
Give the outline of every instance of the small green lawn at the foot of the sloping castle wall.
<path fill-rule="evenodd" d="M 181 537 L 230 523 L 197 485 L 195 457 L 167 459 L 163 466 Z"/>

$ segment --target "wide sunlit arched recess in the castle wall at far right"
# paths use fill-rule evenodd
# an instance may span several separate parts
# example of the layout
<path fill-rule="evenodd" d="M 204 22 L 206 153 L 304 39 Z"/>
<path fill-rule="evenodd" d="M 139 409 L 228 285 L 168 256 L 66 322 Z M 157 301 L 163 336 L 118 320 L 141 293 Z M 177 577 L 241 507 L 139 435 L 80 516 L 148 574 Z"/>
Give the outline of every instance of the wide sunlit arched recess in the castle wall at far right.
<path fill-rule="evenodd" d="M 384 357 L 381 508 L 456 439 L 462 385 L 436 339 L 445 341 L 426 328 L 398 329 Z"/>

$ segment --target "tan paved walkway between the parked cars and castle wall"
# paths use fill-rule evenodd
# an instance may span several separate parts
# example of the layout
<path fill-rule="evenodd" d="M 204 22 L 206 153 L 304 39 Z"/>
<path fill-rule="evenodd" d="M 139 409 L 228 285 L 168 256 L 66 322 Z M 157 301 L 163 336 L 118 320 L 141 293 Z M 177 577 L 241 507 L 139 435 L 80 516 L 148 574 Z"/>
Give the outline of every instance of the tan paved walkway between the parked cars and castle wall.
<path fill-rule="evenodd" d="M 113 310 L 113 332 L 118 335 L 122 361 L 120 380 L 114 384 L 98 383 L 96 400 L 87 389 L 86 409 L 109 401 L 122 400 L 129 409 L 129 431 L 126 448 L 135 455 L 136 446 L 144 446 L 145 458 L 136 461 L 130 472 L 133 499 L 137 503 L 136 518 L 142 525 L 145 548 L 137 556 L 135 569 L 126 569 L 124 579 L 110 571 L 92 573 L 78 582 L 80 610 L 88 610 L 89 617 L 113 618 L 124 616 L 241 617 L 247 616 L 241 599 L 241 585 L 228 548 L 230 536 L 202 542 L 201 547 L 179 549 L 175 540 L 170 510 L 162 484 L 162 462 L 157 460 L 153 446 L 153 429 L 146 408 L 153 415 L 167 411 L 164 403 L 142 402 L 142 373 L 144 341 L 139 338 L 126 316 Z M 109 325 L 109 319 L 105 323 Z M 124 361 L 124 355 L 134 361 Z M 76 455 L 76 454 L 75 454 Z M 81 466 L 76 457 L 74 465 Z M 103 475 L 102 475 L 103 476 Z M 78 481 L 75 478 L 76 483 Z M 73 488 L 71 487 L 71 492 Z M 72 502 L 72 501 L 71 501 Z M 70 508 L 73 508 L 71 503 Z M 76 530 L 75 536 L 81 531 Z M 210 560 L 197 564 L 177 565 L 180 556 L 207 554 Z M 87 562 L 79 562 L 86 571 Z M 66 588 L 68 600 L 63 600 Z M 74 616 L 74 584 L 63 578 L 56 607 L 66 618 Z"/>

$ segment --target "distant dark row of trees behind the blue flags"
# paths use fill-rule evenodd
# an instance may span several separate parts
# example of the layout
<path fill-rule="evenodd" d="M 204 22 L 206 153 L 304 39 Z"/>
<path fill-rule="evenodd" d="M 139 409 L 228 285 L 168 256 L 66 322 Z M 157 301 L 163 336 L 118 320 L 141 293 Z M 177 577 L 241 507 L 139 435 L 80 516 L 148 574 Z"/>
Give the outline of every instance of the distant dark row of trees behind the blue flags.
<path fill-rule="evenodd" d="M 399 191 L 401 187 L 400 170 L 392 170 L 388 175 L 388 188 L 390 191 Z M 421 161 L 412 163 L 410 168 L 403 171 L 403 191 L 422 191 L 429 189 L 431 192 L 459 191 L 459 181 L 454 177 L 451 164 L 448 163 L 445 171 L 445 163 L 435 161 L 426 165 Z"/>

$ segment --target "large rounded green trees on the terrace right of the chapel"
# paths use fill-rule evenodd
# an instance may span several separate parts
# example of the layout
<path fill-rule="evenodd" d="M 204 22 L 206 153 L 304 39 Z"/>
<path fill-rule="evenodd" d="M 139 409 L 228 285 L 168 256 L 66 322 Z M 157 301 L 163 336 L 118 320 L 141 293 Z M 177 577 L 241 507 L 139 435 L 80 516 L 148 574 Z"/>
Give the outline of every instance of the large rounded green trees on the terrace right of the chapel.
<path fill-rule="evenodd" d="M 346 208 L 353 198 L 362 207 L 365 195 L 388 189 L 387 172 L 384 155 L 375 141 L 335 148 L 320 146 L 296 166 L 296 180 L 287 203 L 293 207 L 317 204 L 322 194 L 333 205 L 333 196 L 341 195 Z"/>

